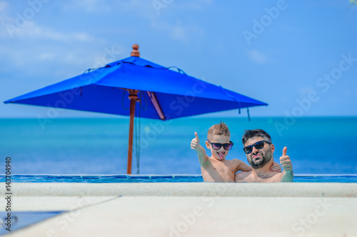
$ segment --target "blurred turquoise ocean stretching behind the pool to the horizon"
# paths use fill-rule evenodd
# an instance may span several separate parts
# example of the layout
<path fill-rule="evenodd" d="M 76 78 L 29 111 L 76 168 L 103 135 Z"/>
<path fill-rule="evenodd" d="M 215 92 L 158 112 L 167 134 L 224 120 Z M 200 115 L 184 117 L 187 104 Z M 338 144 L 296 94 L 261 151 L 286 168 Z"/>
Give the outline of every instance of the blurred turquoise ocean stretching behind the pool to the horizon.
<path fill-rule="evenodd" d="M 203 144 L 220 121 L 234 142 L 226 159 L 246 162 L 243 130 L 261 128 L 272 137 L 275 162 L 288 147 L 295 174 L 357 174 L 357 117 L 136 118 L 132 173 L 201 174 L 191 139 L 198 132 Z M 126 174 L 127 117 L 0 119 L 0 134 L 0 168 L 11 157 L 12 174 Z"/>

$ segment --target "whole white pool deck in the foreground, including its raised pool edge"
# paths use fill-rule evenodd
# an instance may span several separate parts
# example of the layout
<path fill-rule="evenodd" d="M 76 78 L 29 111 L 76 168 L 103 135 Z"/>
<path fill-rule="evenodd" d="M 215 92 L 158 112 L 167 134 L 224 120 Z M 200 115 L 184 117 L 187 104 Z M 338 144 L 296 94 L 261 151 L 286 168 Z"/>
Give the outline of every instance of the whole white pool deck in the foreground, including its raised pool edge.
<path fill-rule="evenodd" d="M 6 236 L 357 236 L 356 183 L 13 183 L 12 188 L 13 211 L 66 212 Z"/>

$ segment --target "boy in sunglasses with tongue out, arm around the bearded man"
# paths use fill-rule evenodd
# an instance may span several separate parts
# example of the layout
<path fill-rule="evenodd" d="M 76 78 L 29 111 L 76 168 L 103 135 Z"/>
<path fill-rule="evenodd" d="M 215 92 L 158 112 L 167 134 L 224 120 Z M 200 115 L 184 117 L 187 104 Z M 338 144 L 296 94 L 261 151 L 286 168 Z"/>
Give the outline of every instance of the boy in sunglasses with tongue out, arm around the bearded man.
<path fill-rule="evenodd" d="M 206 147 L 211 150 L 211 157 L 206 155 L 205 149 L 199 144 L 197 132 L 195 136 L 191 141 L 191 149 L 198 154 L 204 181 L 233 182 L 236 172 L 252 170 L 248 164 L 239 159 L 226 159 L 229 150 L 233 147 L 233 142 L 229 140 L 231 133 L 224 122 L 213 125 L 208 130 Z M 280 166 L 276 163 L 273 164 L 271 170 L 281 172 Z"/>

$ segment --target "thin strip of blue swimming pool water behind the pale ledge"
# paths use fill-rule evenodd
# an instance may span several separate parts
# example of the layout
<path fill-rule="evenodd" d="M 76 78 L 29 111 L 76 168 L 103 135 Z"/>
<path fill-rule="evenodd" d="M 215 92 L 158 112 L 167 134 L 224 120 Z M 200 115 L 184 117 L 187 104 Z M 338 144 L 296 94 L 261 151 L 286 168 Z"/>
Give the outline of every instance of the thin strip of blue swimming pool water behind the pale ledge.
<path fill-rule="evenodd" d="M 54 175 L 54 174 L 15 174 L 12 182 L 35 183 L 151 183 L 151 182 L 202 182 L 201 175 Z M 357 183 L 357 175 L 351 174 L 297 174 L 294 182 L 333 182 Z M 5 182 L 5 176 L 0 175 L 0 182 Z"/>

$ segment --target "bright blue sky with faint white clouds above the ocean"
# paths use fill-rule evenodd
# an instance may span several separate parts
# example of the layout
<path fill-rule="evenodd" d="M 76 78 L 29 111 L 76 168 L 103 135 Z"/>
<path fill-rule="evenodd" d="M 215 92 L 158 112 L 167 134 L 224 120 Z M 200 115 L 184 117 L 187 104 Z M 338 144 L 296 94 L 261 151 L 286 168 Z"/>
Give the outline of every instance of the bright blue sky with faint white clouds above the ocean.
<path fill-rule="evenodd" d="M 252 117 L 357 116 L 357 1 L 0 1 L 0 42 L 0 117 L 45 116 L 2 101 L 126 58 L 133 43 L 269 104 Z"/>

